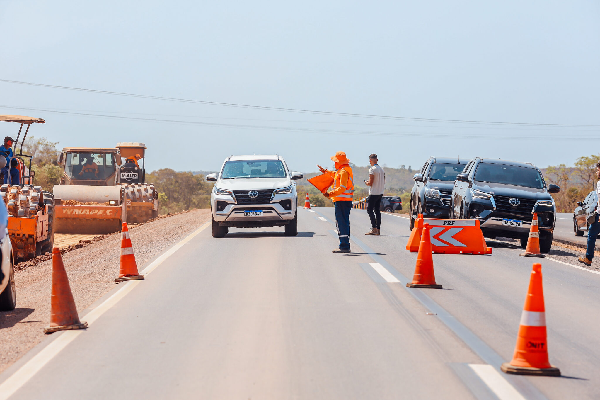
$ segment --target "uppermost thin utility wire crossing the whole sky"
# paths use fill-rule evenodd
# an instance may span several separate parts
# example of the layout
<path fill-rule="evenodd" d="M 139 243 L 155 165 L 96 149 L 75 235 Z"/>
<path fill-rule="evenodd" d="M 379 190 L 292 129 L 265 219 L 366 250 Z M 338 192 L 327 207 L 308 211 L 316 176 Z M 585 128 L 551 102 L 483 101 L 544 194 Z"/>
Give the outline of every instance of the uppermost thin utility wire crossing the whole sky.
<path fill-rule="evenodd" d="M 598 127 L 600 127 L 600 125 L 532 124 L 532 123 L 527 123 L 527 122 L 470 121 L 470 120 L 461 120 L 461 119 L 412 118 L 412 117 L 399 117 L 399 116 L 388 116 L 388 115 L 340 113 L 340 112 L 303 110 L 303 109 L 286 109 L 286 108 L 282 108 L 282 107 L 251 106 L 249 104 L 218 103 L 215 101 L 190 100 L 190 99 L 175 98 L 175 97 L 160 97 L 160 96 L 125 93 L 125 92 L 100 91 L 100 90 L 96 90 L 96 89 L 74 88 L 71 86 L 46 85 L 44 83 L 21 82 L 18 80 L 8 80 L 8 79 L 0 79 L 0 82 L 16 83 L 19 85 L 41 86 L 43 88 L 67 89 L 67 90 L 72 90 L 72 91 L 110 94 L 110 95 L 118 95 L 118 96 L 137 97 L 137 98 L 148 98 L 148 99 L 153 99 L 153 100 L 178 101 L 178 102 L 182 102 L 182 103 L 209 104 L 212 106 L 241 107 L 241 108 L 245 108 L 245 109 L 270 110 L 270 111 L 293 112 L 293 113 L 308 113 L 308 114 L 318 114 L 318 115 L 335 115 L 335 116 L 347 116 L 347 117 L 349 116 L 349 117 L 358 117 L 358 118 L 401 119 L 401 120 L 406 120 L 406 121 L 450 122 L 453 124 L 492 124 L 492 125 L 524 125 L 524 126 L 538 126 L 538 127 L 581 127 L 581 128 L 598 128 Z"/>

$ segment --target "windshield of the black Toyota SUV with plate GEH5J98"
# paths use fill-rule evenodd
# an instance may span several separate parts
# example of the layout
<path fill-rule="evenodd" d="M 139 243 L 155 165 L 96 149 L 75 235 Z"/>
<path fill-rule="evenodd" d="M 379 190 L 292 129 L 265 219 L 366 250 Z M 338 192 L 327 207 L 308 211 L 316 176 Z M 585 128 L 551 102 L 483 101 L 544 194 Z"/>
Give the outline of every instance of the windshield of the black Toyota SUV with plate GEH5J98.
<path fill-rule="evenodd" d="M 535 168 L 506 166 L 504 164 L 480 163 L 475 172 L 475 181 L 535 189 L 544 188 L 542 176 Z"/>

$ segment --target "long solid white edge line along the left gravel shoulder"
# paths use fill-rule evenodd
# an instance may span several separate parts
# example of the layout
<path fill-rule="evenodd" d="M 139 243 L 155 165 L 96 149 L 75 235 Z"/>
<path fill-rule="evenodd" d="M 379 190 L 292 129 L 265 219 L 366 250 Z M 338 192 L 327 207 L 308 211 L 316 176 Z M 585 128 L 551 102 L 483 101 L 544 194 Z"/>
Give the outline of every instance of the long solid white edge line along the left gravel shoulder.
<path fill-rule="evenodd" d="M 209 222 L 202 225 L 202 227 L 198 228 L 192 234 L 190 234 L 185 239 L 181 240 L 181 242 L 177 243 L 173 246 L 169 251 L 165 254 L 158 257 L 154 260 L 149 266 L 147 266 L 143 271 L 142 275 L 148 275 L 152 270 L 158 267 L 164 260 L 166 260 L 169 255 L 172 255 L 175 251 L 181 248 L 185 243 L 189 242 L 194 236 L 205 230 L 208 227 Z M 104 314 L 108 309 L 110 309 L 113 305 L 115 305 L 119 300 L 121 300 L 127 293 L 133 290 L 134 287 L 139 285 L 142 281 L 129 281 L 125 283 L 125 285 L 116 291 L 115 294 L 110 296 L 108 299 L 104 300 L 101 305 L 92 309 L 92 311 L 88 312 L 88 314 L 84 315 L 80 318 L 82 321 L 86 321 L 88 323 L 88 327 L 97 320 L 100 315 Z M 56 354 L 60 353 L 60 351 L 67 347 L 67 345 L 74 341 L 77 336 L 81 335 L 83 330 L 67 330 L 63 332 L 62 335 L 58 336 L 55 340 L 50 342 L 46 347 L 44 347 L 40 353 L 35 354 L 31 360 L 25 363 L 21 368 L 19 368 L 13 375 L 7 378 L 2 384 L 0 384 L 0 400 L 6 400 L 10 396 L 14 394 L 17 390 L 20 389 L 29 379 L 31 379 L 35 374 L 37 374 L 40 369 L 43 368 Z"/>

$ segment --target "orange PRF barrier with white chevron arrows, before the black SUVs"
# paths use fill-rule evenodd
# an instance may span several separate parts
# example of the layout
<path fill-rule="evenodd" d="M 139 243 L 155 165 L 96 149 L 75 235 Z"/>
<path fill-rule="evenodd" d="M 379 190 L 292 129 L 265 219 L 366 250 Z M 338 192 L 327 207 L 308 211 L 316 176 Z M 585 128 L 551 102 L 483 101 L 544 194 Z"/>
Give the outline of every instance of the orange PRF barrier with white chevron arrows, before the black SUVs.
<path fill-rule="evenodd" d="M 421 232 L 424 224 L 429 224 L 431 249 L 442 254 L 491 254 L 491 247 L 485 243 L 484 234 L 478 219 L 431 219 L 419 214 L 415 227 L 410 233 L 406 249 L 419 251 Z"/>

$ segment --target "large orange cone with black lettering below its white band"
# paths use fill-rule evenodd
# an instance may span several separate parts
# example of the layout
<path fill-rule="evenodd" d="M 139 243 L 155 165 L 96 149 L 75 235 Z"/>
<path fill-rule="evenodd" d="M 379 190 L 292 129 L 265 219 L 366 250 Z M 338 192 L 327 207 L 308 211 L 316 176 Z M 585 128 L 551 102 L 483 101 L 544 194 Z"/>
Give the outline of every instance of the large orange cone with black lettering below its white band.
<path fill-rule="evenodd" d="M 533 264 L 515 354 L 500 369 L 507 374 L 560 376 L 560 369 L 548 362 L 542 264 Z"/>

